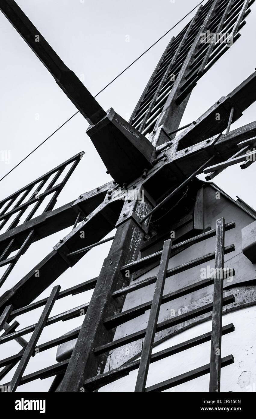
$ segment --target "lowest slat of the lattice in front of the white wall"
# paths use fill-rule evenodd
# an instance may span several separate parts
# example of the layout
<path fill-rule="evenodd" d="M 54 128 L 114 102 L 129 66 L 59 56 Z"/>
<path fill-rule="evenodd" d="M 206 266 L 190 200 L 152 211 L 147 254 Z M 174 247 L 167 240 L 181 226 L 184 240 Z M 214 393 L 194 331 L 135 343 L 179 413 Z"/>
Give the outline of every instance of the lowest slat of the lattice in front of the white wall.
<path fill-rule="evenodd" d="M 226 367 L 227 365 L 233 364 L 234 362 L 235 361 L 233 355 L 228 355 L 227 357 L 222 358 L 220 366 Z M 147 387 L 145 391 L 147 393 L 164 391 L 168 388 L 175 387 L 176 385 L 187 383 L 187 381 L 202 377 L 202 375 L 209 374 L 209 372 L 210 364 L 203 365 L 202 367 L 195 368 L 195 370 L 185 372 L 184 374 L 170 378 L 169 380 L 163 381 L 162 383 L 151 385 L 150 387 Z"/>

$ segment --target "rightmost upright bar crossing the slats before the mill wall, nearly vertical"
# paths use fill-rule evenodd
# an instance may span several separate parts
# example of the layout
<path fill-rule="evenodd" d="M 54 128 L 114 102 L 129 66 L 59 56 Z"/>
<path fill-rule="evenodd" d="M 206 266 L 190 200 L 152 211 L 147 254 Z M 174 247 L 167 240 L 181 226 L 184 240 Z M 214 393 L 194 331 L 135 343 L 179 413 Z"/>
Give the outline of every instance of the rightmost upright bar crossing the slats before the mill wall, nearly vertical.
<path fill-rule="evenodd" d="M 210 392 L 220 391 L 224 246 L 225 219 L 219 218 L 216 223 L 215 277 L 213 289 L 212 337 L 210 354 Z"/>

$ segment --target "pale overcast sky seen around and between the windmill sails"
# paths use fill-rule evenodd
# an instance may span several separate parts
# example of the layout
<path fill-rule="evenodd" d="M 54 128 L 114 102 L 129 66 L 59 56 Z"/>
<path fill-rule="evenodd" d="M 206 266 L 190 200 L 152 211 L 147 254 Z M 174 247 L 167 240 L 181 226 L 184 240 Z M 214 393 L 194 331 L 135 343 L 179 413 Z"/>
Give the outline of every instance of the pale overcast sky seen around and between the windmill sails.
<path fill-rule="evenodd" d="M 120 71 L 130 64 L 199 0 L 18 0 L 18 5 L 38 31 L 84 84 L 95 95 Z M 204 2 L 206 3 L 206 2 Z M 246 18 L 241 38 L 207 72 L 194 89 L 181 125 L 200 116 L 221 96 L 227 95 L 256 67 L 253 40 L 256 35 L 256 8 Z M 179 33 L 195 12 L 108 87 L 97 100 L 104 109 L 113 107 L 128 119 L 153 72 L 162 52 L 173 35 Z M 56 85 L 50 73 L 26 45 L 8 20 L 0 14 L 0 150 L 10 150 L 10 164 L 0 161 L 0 177 L 7 173 L 68 119 L 76 108 Z M 126 35 L 130 42 L 126 42 Z M 205 92 L 207 91 L 207 95 Z M 39 114 L 39 120 L 36 120 Z M 256 104 L 231 129 L 256 119 Z M 56 207 L 76 199 L 81 193 L 110 180 L 106 168 L 85 134 L 86 120 L 78 114 L 31 157 L 0 182 L 0 199 L 25 186 L 51 168 L 81 150 L 84 158 L 61 192 Z M 256 208 L 253 179 L 256 165 L 242 171 L 240 166 L 226 169 L 215 183 L 235 198 L 236 195 Z M 202 177 L 202 176 L 201 176 Z M 34 243 L 13 269 L 1 293 L 29 272 L 69 229 Z M 68 269 L 53 285 L 64 290 L 95 277 L 110 243 L 92 249 L 87 256 Z M 3 268 L 0 274 L 3 273 Z M 49 295 L 51 287 L 41 297 Z M 51 316 L 90 300 L 91 292 L 68 297 L 55 303 Z M 40 298 L 41 298 L 40 297 Z M 35 323 L 42 309 L 34 310 L 18 320 L 20 327 Z M 39 343 L 53 339 L 81 324 L 81 318 L 56 323 L 44 329 Z M 24 336 L 27 340 L 31 335 Z M 2 359 L 20 350 L 16 342 L 1 346 Z M 42 352 L 31 360 L 26 373 L 55 363 L 56 348 Z M 5 378 L 11 379 L 14 370 Z M 20 386 L 17 391 L 47 391 L 52 378 Z"/>

